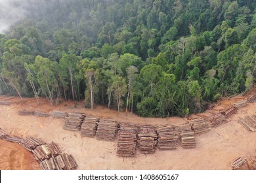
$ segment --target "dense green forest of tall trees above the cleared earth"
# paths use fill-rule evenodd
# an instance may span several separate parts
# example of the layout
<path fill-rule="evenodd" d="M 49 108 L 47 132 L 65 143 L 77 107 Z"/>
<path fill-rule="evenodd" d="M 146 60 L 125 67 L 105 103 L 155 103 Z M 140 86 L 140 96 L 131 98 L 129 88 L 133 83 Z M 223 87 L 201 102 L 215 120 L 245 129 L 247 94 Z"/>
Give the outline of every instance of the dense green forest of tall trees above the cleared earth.
<path fill-rule="evenodd" d="M 253 87 L 255 0 L 39 0 L 0 35 L 0 94 L 140 116 Z"/>

